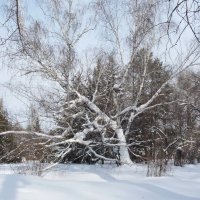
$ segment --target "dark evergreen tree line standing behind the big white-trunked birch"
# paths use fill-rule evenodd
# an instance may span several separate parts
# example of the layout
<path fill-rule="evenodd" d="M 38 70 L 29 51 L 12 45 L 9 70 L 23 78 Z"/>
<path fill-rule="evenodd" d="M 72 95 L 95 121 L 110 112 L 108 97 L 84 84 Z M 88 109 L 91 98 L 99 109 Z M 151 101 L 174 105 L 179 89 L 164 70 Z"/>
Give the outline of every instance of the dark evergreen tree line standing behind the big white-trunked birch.
<path fill-rule="evenodd" d="M 134 107 L 138 109 L 169 79 L 172 74 L 170 67 L 164 66 L 152 53 L 142 49 L 133 59 L 125 84 L 117 87 L 123 77 L 114 56 L 101 56 L 93 70 L 74 77 L 71 84 L 77 93 L 68 93 L 54 112 L 56 127 L 47 134 L 55 137 L 56 141 L 52 143 L 49 138 L 41 139 L 31 135 L 31 132 L 42 131 L 37 110 L 32 106 L 28 126 L 18 128 L 18 131 L 29 131 L 29 135 L 1 136 L 1 156 L 4 157 L 1 161 L 16 162 L 27 157 L 41 159 L 41 162 L 94 164 L 107 161 L 121 164 L 121 144 L 115 130 L 87 102 L 79 101 L 78 95 L 81 93 L 89 102 L 95 102 L 103 114 L 111 120 L 115 119 L 117 109 L 126 110 L 137 99 L 144 59 L 147 71 L 144 89 Z M 123 145 L 127 147 L 131 161 L 152 162 L 163 167 L 172 159 L 177 159 L 177 149 L 181 148 L 185 163 L 200 162 L 199 84 L 199 72 L 184 71 L 169 82 L 149 109 L 139 113 L 131 123 L 131 110 L 119 113 L 126 138 L 126 144 Z M 1 132 L 16 130 L 9 122 L 2 103 L 0 125 Z M 16 151 L 16 158 L 13 150 L 19 143 L 23 145 L 20 152 Z M 30 145 L 33 146 L 31 150 Z M 175 164 L 182 163 L 175 161 Z"/>

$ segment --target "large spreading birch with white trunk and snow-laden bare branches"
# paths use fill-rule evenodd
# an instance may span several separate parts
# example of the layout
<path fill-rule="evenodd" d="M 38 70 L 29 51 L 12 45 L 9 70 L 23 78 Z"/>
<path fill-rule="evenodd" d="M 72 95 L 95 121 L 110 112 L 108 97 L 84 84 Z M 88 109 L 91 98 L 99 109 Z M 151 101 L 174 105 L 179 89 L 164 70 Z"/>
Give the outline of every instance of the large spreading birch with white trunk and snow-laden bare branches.
<path fill-rule="evenodd" d="M 130 147 L 137 141 L 130 142 L 128 137 L 135 120 L 159 106 L 180 102 L 161 98 L 162 93 L 180 72 L 198 64 L 199 46 L 192 43 L 186 56 L 176 61 L 172 73 L 163 76 L 165 79 L 149 92 L 149 81 L 154 81 L 149 77 L 156 71 L 149 62 L 157 1 L 99 0 L 90 5 L 98 14 L 93 18 L 101 22 L 109 44 L 108 50 L 104 49 L 107 56 L 96 57 L 94 70 L 94 63 L 81 70 L 78 48 L 84 36 L 99 27 L 91 19 L 92 12 L 86 12 L 88 7 L 72 0 L 41 1 L 43 17 L 31 21 L 27 21 L 22 4 L 16 1 L 18 33 L 15 48 L 8 55 L 12 53 L 10 58 L 15 58 L 23 75 L 37 75 L 56 85 L 54 90 L 44 92 L 45 98 L 35 99 L 55 120 L 57 129 L 53 135 L 32 132 L 46 138 L 42 144 L 55 150 L 55 161 L 75 152 L 91 160 L 131 164 Z M 144 52 L 138 53 L 141 49 Z M 139 67 L 133 65 L 137 56 Z M 136 70 L 132 71 L 136 78 L 132 88 L 128 82 L 131 68 Z M 148 95 L 144 98 L 145 92 Z M 0 133 L 6 134 L 29 132 Z"/>

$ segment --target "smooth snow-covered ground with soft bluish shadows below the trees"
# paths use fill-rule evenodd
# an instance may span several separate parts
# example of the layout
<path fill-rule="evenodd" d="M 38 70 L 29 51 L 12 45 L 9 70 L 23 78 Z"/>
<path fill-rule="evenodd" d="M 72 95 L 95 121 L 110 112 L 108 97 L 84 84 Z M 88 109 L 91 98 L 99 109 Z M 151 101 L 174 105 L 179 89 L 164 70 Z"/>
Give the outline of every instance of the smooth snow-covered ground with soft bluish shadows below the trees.
<path fill-rule="evenodd" d="M 146 177 L 138 165 L 59 165 L 43 177 L 12 169 L 0 166 L 0 200 L 200 200 L 200 165 L 173 168 L 165 177 Z"/>

